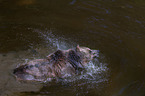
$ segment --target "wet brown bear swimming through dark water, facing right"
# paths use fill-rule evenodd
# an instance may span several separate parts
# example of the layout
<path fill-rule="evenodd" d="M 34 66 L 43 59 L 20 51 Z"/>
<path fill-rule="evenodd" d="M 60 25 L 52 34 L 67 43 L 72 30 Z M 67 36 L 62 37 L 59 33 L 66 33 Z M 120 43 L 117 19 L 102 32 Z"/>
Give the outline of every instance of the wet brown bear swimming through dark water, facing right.
<path fill-rule="evenodd" d="M 14 69 L 18 80 L 45 81 L 64 78 L 82 71 L 87 64 L 98 57 L 98 50 L 79 47 L 68 50 L 57 50 L 46 59 L 35 59 Z"/>

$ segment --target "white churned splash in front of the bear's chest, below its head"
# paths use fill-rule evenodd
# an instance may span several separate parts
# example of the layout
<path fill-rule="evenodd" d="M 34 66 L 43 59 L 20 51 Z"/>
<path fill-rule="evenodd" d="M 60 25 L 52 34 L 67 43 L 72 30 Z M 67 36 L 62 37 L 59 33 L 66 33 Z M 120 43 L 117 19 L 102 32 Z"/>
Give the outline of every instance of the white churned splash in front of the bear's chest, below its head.
<path fill-rule="evenodd" d="M 87 83 L 99 83 L 108 81 L 107 77 L 104 76 L 107 73 L 108 67 L 105 63 L 100 62 L 92 62 L 88 63 L 88 66 L 85 68 L 84 71 L 81 72 L 78 76 L 74 78 L 66 78 L 64 79 L 65 82 L 74 82 L 79 80 L 89 81 Z"/>

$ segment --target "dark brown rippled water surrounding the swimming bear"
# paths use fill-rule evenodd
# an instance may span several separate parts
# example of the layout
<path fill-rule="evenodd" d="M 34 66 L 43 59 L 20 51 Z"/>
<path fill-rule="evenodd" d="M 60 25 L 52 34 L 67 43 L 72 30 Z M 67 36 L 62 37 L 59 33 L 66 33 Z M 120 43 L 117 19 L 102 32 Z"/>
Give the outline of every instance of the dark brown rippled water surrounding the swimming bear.
<path fill-rule="evenodd" d="M 0 95 L 145 96 L 144 10 L 144 0 L 0 0 Z M 102 53 L 85 78 L 26 83 L 12 75 L 77 44 Z"/>

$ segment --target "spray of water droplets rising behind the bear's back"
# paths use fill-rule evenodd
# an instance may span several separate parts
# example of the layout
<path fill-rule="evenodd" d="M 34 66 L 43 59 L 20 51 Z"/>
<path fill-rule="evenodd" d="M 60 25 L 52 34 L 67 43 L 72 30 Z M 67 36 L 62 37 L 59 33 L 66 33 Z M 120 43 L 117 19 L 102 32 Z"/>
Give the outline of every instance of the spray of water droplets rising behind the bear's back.
<path fill-rule="evenodd" d="M 45 44 L 51 47 L 52 49 L 62 49 L 66 50 L 69 48 L 73 48 L 74 45 L 76 45 L 75 42 L 70 42 L 69 38 L 65 39 L 63 37 L 59 37 L 56 34 L 52 33 L 52 30 L 46 30 L 46 31 L 40 31 L 40 30 L 34 30 L 40 35 L 40 38 L 44 39 Z"/>

